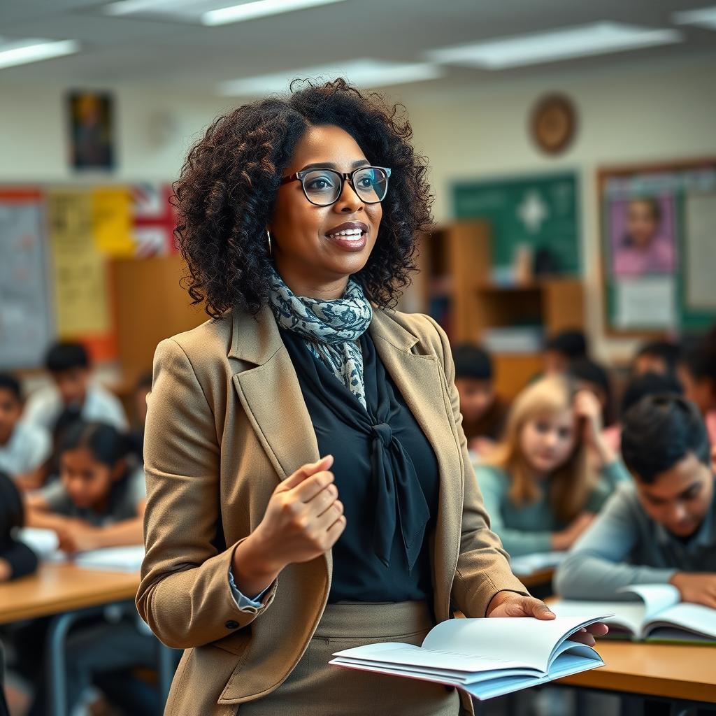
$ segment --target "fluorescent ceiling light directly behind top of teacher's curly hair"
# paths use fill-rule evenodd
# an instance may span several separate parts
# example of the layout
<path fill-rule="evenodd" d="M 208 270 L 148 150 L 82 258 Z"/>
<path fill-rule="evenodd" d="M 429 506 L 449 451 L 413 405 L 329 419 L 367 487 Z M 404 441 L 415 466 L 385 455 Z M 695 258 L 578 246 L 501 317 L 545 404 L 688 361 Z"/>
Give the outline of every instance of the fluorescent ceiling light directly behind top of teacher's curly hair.
<path fill-rule="evenodd" d="M 289 83 L 296 77 L 320 78 L 328 81 L 337 77 L 345 77 L 352 84 L 362 87 L 384 87 L 389 84 L 405 82 L 421 82 L 425 79 L 442 77 L 442 70 L 435 64 L 382 62 L 377 59 L 351 59 L 347 62 L 336 62 L 315 67 L 261 74 L 245 79 L 232 79 L 221 82 L 218 90 L 227 97 L 256 97 L 271 92 L 285 92 Z"/>

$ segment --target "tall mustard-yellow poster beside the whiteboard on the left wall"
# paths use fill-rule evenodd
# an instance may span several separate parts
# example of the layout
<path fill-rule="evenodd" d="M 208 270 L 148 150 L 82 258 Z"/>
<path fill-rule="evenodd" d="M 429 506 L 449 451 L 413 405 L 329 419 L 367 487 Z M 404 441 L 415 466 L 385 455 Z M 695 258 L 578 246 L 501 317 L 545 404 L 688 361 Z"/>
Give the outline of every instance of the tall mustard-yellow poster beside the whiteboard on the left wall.
<path fill-rule="evenodd" d="M 60 338 L 87 344 L 95 359 L 116 354 L 105 256 L 94 236 L 92 192 L 48 193 L 54 306 Z"/>

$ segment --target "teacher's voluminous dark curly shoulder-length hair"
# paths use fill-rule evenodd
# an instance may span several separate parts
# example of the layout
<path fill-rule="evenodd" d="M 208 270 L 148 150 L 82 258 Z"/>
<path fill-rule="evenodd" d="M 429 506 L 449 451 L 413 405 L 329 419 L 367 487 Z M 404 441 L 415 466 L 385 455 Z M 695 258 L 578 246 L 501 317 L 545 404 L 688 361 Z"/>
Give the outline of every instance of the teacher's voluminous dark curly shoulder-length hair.
<path fill-rule="evenodd" d="M 405 107 L 388 107 L 344 79 L 294 80 L 291 94 L 268 97 L 218 117 L 189 151 L 173 204 L 175 238 L 187 263 L 192 304 L 218 318 L 238 306 L 256 316 L 269 298 L 266 225 L 294 148 L 316 125 L 351 135 L 374 165 L 390 167 L 390 190 L 366 265 L 354 278 L 367 298 L 395 306 L 417 271 L 417 238 L 432 223 L 427 161 L 415 153 Z"/>

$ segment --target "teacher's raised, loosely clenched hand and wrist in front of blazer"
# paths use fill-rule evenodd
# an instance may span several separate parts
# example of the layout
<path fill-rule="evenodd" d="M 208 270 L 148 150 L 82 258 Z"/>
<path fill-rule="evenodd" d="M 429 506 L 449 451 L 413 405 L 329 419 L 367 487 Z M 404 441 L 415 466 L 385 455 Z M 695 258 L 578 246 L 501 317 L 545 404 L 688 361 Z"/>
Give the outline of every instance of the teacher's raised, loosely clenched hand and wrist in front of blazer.
<path fill-rule="evenodd" d="M 284 567 L 321 556 L 341 536 L 346 518 L 332 464 L 326 455 L 276 487 L 263 520 L 234 553 L 234 582 L 243 594 L 258 594 Z"/>

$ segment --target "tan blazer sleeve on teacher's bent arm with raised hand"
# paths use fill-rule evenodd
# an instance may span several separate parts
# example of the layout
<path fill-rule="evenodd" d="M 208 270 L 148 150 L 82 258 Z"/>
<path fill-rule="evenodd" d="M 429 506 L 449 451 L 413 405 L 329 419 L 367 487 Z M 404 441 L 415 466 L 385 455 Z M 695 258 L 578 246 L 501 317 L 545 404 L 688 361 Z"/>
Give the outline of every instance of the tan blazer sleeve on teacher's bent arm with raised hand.
<path fill-rule="evenodd" d="M 245 627 L 260 609 L 242 609 L 229 577 L 238 542 L 216 548 L 220 450 L 211 406 L 190 359 L 175 339 L 155 353 L 147 401 L 144 518 L 146 556 L 137 609 L 161 642 L 187 649 Z"/>

